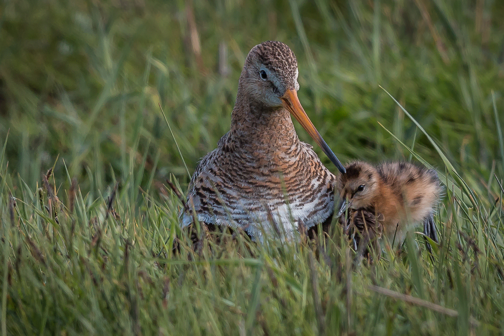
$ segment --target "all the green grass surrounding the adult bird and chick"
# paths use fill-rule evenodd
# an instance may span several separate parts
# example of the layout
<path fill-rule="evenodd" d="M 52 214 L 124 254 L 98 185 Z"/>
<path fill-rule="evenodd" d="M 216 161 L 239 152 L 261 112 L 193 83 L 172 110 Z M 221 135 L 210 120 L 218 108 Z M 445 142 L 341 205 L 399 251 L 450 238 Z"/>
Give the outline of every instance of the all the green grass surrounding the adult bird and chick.
<path fill-rule="evenodd" d="M 0 335 L 501 335 L 503 16 L 466 0 L 1 3 Z M 413 234 L 353 266 L 337 225 L 322 250 L 238 236 L 172 255 L 164 181 L 186 190 L 268 39 L 296 53 L 300 101 L 343 162 L 438 170 L 434 262 Z"/>

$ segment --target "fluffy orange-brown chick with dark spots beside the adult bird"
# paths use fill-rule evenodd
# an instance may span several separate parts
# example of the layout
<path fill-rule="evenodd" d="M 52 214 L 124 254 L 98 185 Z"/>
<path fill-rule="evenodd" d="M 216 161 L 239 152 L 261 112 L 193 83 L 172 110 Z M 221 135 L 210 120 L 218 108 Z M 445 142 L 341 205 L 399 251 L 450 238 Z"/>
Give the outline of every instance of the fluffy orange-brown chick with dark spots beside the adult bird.
<path fill-rule="evenodd" d="M 423 233 L 438 242 L 433 215 L 443 187 L 435 170 L 409 162 L 374 167 L 357 161 L 346 167 L 337 185 L 341 197 L 338 216 L 348 208 L 372 207 L 384 216 L 383 229 L 389 241 L 395 237 L 402 243 L 406 232 L 422 223 Z"/>

